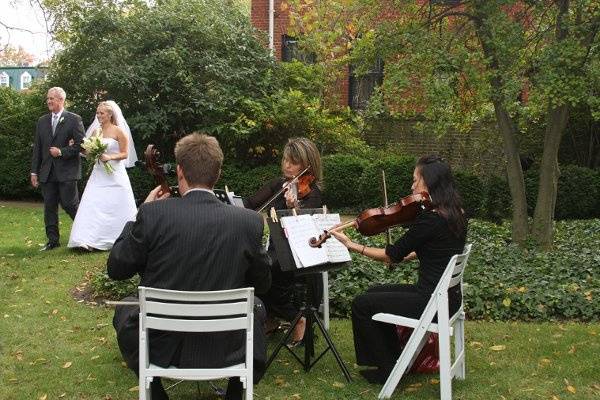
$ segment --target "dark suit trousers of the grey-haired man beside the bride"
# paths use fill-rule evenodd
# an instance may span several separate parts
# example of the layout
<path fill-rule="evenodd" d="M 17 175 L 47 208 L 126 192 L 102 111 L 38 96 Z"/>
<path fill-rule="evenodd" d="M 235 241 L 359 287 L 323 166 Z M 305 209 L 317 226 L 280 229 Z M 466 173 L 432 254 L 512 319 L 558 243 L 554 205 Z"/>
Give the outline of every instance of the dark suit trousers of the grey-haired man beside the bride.
<path fill-rule="evenodd" d="M 46 236 L 48 242 L 59 243 L 58 232 L 58 204 L 66 213 L 75 219 L 79 207 L 79 192 L 77 181 L 58 182 L 50 170 L 48 181 L 41 183 L 42 196 L 44 196 L 44 224 L 46 225 Z"/>

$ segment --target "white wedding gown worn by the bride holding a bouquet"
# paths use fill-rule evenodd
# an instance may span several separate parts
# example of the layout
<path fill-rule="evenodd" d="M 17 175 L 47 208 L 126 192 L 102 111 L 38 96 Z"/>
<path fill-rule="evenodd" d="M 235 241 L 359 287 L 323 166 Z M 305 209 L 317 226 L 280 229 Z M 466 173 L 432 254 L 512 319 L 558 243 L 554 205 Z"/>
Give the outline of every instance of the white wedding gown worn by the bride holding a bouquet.
<path fill-rule="evenodd" d="M 108 154 L 119 152 L 119 142 L 102 138 Z M 114 172 L 107 174 L 96 163 L 88 179 L 71 228 L 68 247 L 109 250 L 127 221 L 135 220 L 137 208 L 124 160 L 108 161 Z"/>

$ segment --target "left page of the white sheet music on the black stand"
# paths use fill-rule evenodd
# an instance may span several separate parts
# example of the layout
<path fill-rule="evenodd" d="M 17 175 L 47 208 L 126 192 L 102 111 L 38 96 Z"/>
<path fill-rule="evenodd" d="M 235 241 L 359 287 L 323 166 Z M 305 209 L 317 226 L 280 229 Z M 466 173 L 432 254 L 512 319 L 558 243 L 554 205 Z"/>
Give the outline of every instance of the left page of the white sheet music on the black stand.
<path fill-rule="evenodd" d="M 310 215 L 282 217 L 280 221 L 285 228 L 294 259 L 297 257 L 300 261 L 300 265 L 296 264 L 298 268 L 329 262 L 325 248 L 310 247 L 308 244 L 311 238 L 318 236 L 317 227 Z"/>

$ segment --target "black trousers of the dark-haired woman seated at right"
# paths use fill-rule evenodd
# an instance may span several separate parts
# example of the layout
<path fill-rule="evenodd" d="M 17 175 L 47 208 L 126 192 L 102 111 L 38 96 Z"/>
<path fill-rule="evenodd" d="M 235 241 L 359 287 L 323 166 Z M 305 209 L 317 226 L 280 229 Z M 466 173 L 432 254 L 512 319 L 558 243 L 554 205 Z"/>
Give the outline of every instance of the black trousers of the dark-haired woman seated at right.
<path fill-rule="evenodd" d="M 373 321 L 377 313 L 390 313 L 408 318 L 421 318 L 431 298 L 414 285 L 380 285 L 358 295 L 352 302 L 352 330 L 358 365 L 391 369 L 402 352 L 396 327 Z M 460 307 L 460 292 L 449 292 L 449 312 Z"/>

